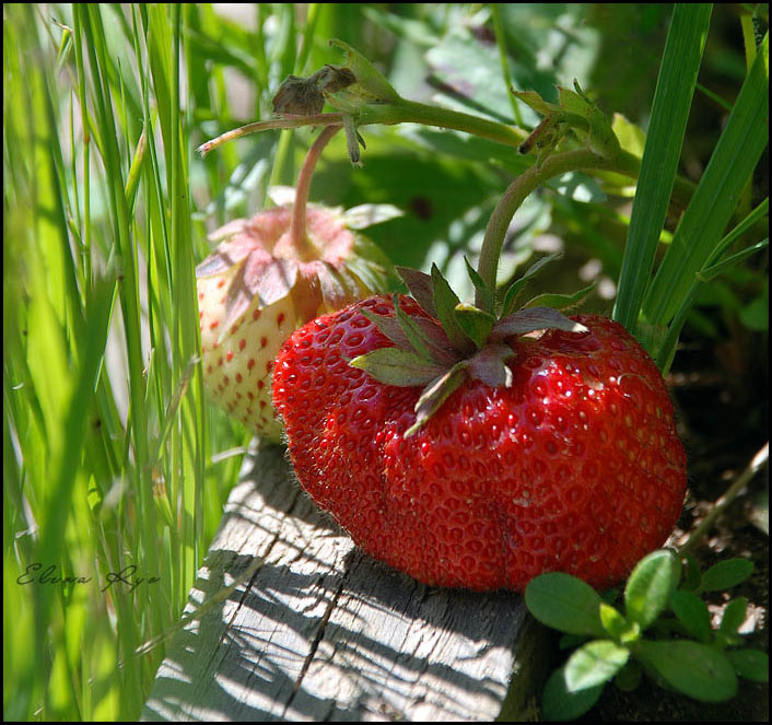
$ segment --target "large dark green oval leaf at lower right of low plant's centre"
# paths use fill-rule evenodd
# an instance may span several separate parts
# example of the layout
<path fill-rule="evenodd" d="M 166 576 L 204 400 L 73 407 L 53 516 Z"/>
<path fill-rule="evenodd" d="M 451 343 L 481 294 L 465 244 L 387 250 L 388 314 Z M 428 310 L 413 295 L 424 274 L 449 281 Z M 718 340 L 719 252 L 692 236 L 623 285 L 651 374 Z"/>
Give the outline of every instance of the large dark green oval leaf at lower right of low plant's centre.
<path fill-rule="evenodd" d="M 737 676 L 721 651 L 690 640 L 641 642 L 635 655 L 655 677 L 703 702 L 724 702 L 737 694 Z"/>

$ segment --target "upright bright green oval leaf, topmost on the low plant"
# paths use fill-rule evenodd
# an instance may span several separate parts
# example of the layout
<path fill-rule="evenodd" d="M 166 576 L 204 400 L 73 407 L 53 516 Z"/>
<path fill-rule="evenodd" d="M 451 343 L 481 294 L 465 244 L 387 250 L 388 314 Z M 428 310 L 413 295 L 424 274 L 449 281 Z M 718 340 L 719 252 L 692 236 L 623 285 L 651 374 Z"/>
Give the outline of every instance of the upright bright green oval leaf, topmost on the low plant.
<path fill-rule="evenodd" d="M 672 551 L 659 549 L 644 557 L 624 588 L 628 619 L 638 622 L 642 630 L 650 627 L 667 606 L 680 575 L 681 562 Z"/>

